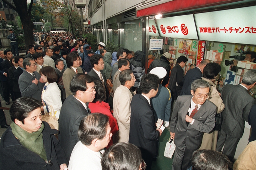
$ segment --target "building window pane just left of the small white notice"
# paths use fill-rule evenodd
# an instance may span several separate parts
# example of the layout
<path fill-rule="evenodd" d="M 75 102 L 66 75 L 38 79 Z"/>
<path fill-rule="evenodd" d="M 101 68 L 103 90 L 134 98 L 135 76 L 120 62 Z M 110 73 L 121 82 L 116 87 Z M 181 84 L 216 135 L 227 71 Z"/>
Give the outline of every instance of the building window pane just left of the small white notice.
<path fill-rule="evenodd" d="M 124 48 L 137 51 L 142 50 L 142 21 L 140 19 L 125 22 Z"/>

